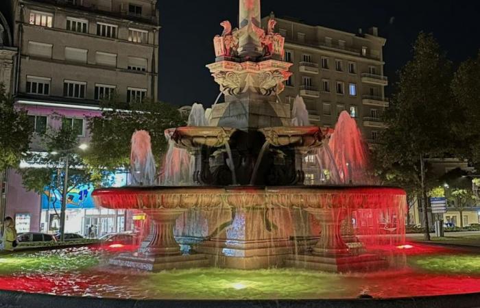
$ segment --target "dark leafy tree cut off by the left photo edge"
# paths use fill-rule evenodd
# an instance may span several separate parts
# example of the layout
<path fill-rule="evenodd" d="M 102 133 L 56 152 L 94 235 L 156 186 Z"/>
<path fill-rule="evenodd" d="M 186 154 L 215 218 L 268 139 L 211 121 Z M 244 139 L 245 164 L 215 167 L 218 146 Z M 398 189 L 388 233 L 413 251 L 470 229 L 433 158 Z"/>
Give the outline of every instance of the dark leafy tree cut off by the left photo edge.
<path fill-rule="evenodd" d="M 0 84 L 0 172 L 19 166 L 29 149 L 32 125 L 25 110 L 16 110 L 14 101 Z"/>

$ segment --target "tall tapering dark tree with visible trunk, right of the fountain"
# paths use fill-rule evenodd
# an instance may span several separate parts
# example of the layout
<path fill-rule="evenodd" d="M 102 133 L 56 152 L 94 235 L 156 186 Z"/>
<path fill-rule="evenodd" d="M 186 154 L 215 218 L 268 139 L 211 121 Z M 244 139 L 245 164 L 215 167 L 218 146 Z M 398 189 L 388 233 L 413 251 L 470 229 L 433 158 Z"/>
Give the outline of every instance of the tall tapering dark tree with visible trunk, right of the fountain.
<path fill-rule="evenodd" d="M 384 114 L 386 129 L 376 149 L 382 169 L 400 170 L 405 178 L 418 179 L 426 240 L 430 234 L 425 159 L 451 151 L 451 127 L 457 112 L 450 90 L 452 77 L 451 62 L 433 36 L 420 33 L 413 44 L 413 59 L 400 70 Z"/>

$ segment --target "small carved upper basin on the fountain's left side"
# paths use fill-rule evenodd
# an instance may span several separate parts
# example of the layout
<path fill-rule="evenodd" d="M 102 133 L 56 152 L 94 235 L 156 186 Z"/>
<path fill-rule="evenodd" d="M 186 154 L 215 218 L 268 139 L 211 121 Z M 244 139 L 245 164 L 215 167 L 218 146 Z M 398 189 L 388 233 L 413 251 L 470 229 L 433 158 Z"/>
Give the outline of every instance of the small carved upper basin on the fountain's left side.
<path fill-rule="evenodd" d="M 228 127 L 188 126 L 167 129 L 165 135 L 182 149 L 195 149 L 201 146 L 218 148 L 224 146 L 235 131 L 237 129 Z"/>

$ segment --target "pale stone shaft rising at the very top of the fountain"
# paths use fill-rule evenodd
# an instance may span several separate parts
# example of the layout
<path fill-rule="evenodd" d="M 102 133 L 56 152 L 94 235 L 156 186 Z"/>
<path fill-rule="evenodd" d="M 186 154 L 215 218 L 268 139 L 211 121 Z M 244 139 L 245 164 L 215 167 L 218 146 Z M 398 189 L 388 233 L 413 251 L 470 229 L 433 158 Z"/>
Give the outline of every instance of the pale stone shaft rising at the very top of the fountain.
<path fill-rule="evenodd" d="M 262 55 L 263 49 L 255 28 L 261 27 L 260 0 L 240 0 L 240 57 L 255 58 Z"/>

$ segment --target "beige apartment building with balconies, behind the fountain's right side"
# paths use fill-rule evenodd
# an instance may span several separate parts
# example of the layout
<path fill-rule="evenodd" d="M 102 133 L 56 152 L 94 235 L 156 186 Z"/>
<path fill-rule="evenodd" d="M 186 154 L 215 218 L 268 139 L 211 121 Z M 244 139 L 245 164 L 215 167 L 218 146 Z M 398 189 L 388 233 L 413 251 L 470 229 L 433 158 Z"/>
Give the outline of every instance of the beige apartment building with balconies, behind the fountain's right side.
<path fill-rule="evenodd" d="M 346 110 L 357 119 L 365 140 L 374 143 L 388 106 L 388 80 L 383 75 L 386 40 L 379 37 L 378 29 L 351 34 L 274 14 L 263 18 L 264 25 L 269 18 L 276 19 L 276 31 L 285 37 L 284 60 L 293 63 L 293 75 L 280 99 L 293 103 L 300 94 L 313 125 L 334 127 Z"/>

